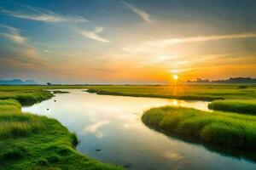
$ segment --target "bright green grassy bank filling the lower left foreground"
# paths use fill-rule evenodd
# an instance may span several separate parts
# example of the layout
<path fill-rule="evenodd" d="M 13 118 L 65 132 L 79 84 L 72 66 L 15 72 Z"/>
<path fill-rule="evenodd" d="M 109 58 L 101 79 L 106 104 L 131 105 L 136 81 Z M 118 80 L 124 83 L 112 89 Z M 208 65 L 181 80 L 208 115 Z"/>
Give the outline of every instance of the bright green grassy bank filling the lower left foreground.
<path fill-rule="evenodd" d="M 79 154 L 76 135 L 60 122 L 20 108 L 0 100 L 0 169 L 122 169 Z"/>

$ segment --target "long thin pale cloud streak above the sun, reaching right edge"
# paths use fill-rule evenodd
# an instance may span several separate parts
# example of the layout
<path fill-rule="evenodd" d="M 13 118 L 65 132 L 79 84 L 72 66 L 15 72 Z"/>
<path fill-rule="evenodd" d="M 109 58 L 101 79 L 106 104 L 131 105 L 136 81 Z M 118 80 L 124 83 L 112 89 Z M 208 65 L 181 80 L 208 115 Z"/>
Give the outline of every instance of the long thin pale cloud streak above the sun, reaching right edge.
<path fill-rule="evenodd" d="M 158 46 L 158 47 L 165 47 L 166 45 L 172 45 L 172 44 L 176 44 L 176 43 L 207 42 L 207 41 L 217 41 L 217 40 L 225 40 L 225 39 L 253 38 L 253 37 L 256 37 L 256 33 L 245 32 L 245 33 L 240 33 L 240 34 L 166 38 L 166 39 L 161 39 L 158 41 L 147 42 L 147 43 L 154 45 L 154 46 Z"/>

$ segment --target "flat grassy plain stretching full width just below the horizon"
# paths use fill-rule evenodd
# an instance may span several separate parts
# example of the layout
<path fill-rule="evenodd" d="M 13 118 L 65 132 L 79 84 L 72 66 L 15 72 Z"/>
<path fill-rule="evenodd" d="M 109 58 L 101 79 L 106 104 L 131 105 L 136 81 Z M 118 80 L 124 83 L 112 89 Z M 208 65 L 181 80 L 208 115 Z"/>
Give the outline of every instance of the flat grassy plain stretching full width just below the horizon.
<path fill-rule="evenodd" d="M 239 88 L 246 86 L 247 88 Z M 108 85 L 108 86 L 0 86 L 1 94 L 40 91 L 42 89 L 81 88 L 94 89 L 99 94 L 113 94 L 136 97 L 158 97 L 172 99 L 256 99 L 255 84 L 177 84 L 177 86 L 154 85 Z"/>

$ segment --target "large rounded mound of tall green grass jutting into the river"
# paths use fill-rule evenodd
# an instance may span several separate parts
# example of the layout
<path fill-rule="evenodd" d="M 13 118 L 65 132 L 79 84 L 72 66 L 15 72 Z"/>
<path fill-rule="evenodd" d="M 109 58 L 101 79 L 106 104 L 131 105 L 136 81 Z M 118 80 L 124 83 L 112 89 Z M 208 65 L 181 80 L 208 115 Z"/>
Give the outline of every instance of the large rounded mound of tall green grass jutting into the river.
<path fill-rule="evenodd" d="M 240 150 L 256 150 L 256 116 L 160 107 L 142 117 L 149 127 Z"/>

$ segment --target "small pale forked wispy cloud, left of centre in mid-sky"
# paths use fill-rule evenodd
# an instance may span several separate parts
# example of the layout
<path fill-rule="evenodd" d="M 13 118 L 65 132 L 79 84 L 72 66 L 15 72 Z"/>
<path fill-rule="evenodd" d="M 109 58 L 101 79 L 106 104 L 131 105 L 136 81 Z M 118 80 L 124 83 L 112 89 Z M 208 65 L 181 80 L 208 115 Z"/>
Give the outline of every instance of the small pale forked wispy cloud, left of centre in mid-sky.
<path fill-rule="evenodd" d="M 80 31 L 80 34 L 84 37 L 87 37 L 92 40 L 96 40 L 98 42 L 110 42 L 108 39 L 99 35 L 99 33 L 101 33 L 103 30 L 104 30 L 103 27 L 96 27 L 95 31 L 82 30 Z"/>

